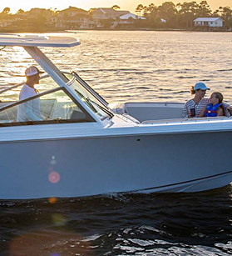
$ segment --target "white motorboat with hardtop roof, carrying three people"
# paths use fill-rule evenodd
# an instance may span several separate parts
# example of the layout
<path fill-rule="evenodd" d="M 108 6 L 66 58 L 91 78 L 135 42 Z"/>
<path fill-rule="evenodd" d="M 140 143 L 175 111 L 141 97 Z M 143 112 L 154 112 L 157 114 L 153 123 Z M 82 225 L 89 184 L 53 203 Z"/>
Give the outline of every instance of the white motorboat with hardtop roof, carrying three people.
<path fill-rule="evenodd" d="M 37 96 L 18 101 L 22 84 L 1 91 L 0 198 L 198 192 L 232 181 L 232 118 L 181 118 L 181 103 L 112 106 L 40 49 L 78 44 L 0 36 L 2 47 L 24 48 L 46 72 Z M 17 107 L 34 98 L 47 119 L 17 123 Z"/>

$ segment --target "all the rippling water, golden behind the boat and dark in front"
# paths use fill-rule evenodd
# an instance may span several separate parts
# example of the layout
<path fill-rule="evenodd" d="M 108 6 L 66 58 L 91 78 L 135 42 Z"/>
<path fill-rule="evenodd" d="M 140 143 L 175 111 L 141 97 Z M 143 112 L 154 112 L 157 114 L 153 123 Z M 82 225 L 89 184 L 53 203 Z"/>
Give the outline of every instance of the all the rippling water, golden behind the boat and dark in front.
<path fill-rule="evenodd" d="M 81 47 L 45 52 L 108 102 L 184 102 L 201 80 L 232 103 L 232 33 L 72 35 Z M 22 82 L 32 63 L 27 53 L 4 48 L 0 55 L 1 87 Z M 0 256 L 230 255 L 231 195 L 229 185 L 204 193 L 0 201 Z"/>

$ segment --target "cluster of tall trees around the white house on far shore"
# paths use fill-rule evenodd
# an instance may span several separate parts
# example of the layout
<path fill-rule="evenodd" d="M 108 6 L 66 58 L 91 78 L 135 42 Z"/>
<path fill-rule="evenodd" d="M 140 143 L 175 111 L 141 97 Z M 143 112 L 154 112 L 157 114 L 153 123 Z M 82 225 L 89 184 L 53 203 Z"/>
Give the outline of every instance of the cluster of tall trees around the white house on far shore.
<path fill-rule="evenodd" d="M 149 6 L 139 4 L 136 14 L 146 18 L 144 26 L 151 28 L 192 28 L 195 18 L 222 18 L 225 29 L 232 28 L 232 9 L 229 6 L 219 7 L 212 11 L 207 1 L 200 3 L 165 2 L 160 6 L 154 3 Z"/>

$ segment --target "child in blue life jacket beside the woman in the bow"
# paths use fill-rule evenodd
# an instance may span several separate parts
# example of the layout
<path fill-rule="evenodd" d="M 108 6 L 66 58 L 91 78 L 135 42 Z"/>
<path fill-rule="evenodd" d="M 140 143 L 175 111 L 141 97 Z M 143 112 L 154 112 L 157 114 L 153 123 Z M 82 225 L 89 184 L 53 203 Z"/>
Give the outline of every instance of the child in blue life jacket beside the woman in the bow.
<path fill-rule="evenodd" d="M 201 110 L 199 118 L 224 116 L 224 105 L 222 101 L 223 95 L 221 93 L 212 93 L 209 98 L 209 104 Z"/>

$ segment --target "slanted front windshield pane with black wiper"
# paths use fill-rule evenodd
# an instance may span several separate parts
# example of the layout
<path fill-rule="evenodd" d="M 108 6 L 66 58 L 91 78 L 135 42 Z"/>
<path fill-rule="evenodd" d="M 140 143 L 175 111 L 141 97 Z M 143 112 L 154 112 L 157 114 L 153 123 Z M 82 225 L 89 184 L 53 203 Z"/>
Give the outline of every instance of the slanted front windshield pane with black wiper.
<path fill-rule="evenodd" d="M 91 111 L 96 113 L 98 118 L 101 120 L 112 118 L 113 113 L 111 113 L 111 111 L 108 110 L 91 92 L 83 87 L 75 77 L 72 76 L 72 79 L 67 83 L 67 86 L 72 89 L 72 92 L 75 93 L 88 108 L 91 108 Z"/>

